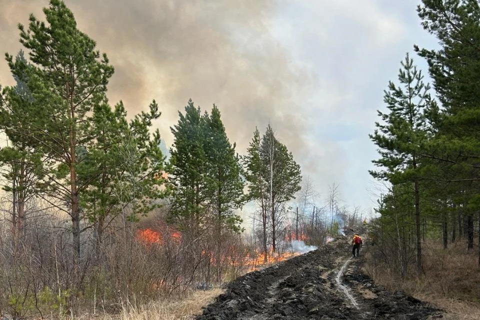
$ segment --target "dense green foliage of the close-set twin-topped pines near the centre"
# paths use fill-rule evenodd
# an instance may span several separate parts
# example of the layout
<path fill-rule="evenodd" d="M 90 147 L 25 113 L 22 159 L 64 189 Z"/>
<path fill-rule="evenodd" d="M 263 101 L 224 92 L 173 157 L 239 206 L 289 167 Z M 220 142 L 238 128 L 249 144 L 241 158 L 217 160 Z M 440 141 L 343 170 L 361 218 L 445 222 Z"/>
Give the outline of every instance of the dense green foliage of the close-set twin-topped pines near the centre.
<path fill-rule="evenodd" d="M 190 99 L 185 114 L 171 128 L 170 151 L 173 203 L 171 218 L 180 227 L 204 229 L 214 224 L 241 231 L 241 219 L 234 213 L 242 205 L 243 182 L 235 145 L 231 145 L 213 105 L 211 114 L 200 114 Z"/>

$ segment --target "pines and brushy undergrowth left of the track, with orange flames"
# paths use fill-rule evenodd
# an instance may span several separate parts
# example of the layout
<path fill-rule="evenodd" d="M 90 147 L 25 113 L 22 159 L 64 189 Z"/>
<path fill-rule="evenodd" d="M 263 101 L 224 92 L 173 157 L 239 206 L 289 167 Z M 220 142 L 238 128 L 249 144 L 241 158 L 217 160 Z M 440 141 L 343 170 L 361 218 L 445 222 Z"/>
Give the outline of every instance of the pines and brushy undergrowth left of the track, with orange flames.
<path fill-rule="evenodd" d="M 218 108 L 190 100 L 166 161 L 157 103 L 112 106 L 106 54 L 63 1 L 43 13 L 19 25 L 28 55 L 6 54 L 16 84 L 0 95 L 0 315 L 116 311 L 233 278 L 256 254 L 240 237 L 247 201 L 275 252 L 301 173 L 273 129 L 239 156 Z"/>

